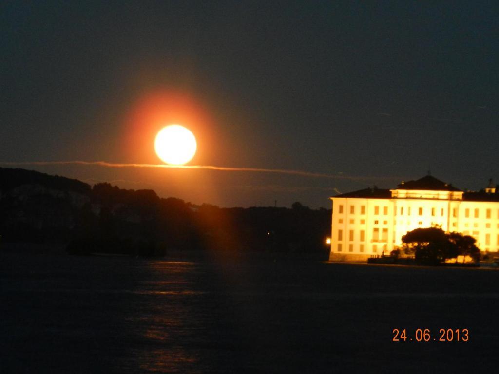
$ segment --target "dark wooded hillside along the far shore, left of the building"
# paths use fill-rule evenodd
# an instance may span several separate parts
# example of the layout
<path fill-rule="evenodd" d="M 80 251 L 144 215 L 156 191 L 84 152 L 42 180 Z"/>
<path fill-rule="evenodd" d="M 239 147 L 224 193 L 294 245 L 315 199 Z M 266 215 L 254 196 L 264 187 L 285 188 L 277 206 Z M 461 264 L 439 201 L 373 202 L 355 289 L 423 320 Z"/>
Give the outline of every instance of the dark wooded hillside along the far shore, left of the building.
<path fill-rule="evenodd" d="M 0 168 L 1 242 L 64 244 L 73 254 L 173 251 L 324 253 L 331 211 L 220 208 L 160 198 L 153 190 Z M 327 255 L 326 255 L 327 257 Z"/>

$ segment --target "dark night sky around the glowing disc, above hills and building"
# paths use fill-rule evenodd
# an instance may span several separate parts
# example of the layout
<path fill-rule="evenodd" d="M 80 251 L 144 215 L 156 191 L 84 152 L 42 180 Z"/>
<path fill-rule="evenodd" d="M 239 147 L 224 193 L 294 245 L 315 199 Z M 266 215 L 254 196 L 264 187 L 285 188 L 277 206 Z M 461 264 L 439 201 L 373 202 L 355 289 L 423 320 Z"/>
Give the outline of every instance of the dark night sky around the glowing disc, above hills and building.
<path fill-rule="evenodd" d="M 12 1 L 0 17 L 1 162 L 157 163 L 123 140 L 129 113 L 176 90 L 211 119 L 194 164 L 361 179 L 24 167 L 224 206 L 328 207 L 429 167 L 499 182 L 495 1 Z"/>

